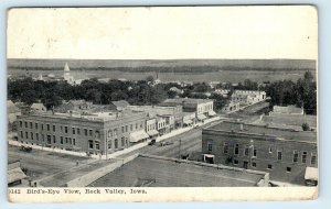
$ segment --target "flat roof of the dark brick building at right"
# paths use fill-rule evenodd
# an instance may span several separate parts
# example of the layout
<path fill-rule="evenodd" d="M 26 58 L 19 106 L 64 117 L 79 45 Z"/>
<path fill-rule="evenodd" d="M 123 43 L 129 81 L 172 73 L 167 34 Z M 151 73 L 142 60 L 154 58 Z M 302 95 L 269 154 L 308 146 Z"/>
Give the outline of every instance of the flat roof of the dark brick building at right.
<path fill-rule="evenodd" d="M 211 125 L 205 130 L 214 131 L 226 131 L 235 133 L 246 133 L 246 134 L 258 134 L 258 135 L 271 135 L 281 138 L 285 140 L 296 140 L 303 142 L 317 143 L 317 132 L 312 131 L 295 131 L 281 128 L 267 128 L 260 124 L 243 124 L 239 122 L 224 121 L 215 125 Z"/>

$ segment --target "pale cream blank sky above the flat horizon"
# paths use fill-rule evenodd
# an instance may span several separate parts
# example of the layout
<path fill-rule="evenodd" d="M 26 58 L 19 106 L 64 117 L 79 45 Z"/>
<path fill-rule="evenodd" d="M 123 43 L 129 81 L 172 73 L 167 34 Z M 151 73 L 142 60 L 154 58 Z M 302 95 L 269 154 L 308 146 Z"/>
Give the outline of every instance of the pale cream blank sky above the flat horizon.
<path fill-rule="evenodd" d="M 8 58 L 317 59 L 310 6 L 11 9 Z"/>

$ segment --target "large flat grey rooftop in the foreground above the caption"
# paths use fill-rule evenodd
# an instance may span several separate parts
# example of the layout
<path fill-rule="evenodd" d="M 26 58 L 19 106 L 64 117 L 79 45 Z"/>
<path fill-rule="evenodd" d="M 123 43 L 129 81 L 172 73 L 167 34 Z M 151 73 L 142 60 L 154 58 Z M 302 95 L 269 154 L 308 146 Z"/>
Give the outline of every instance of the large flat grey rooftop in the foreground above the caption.
<path fill-rule="evenodd" d="M 217 169 L 207 164 L 180 163 L 150 156 L 134 161 L 99 178 L 89 187 L 253 187 L 266 173 Z"/>

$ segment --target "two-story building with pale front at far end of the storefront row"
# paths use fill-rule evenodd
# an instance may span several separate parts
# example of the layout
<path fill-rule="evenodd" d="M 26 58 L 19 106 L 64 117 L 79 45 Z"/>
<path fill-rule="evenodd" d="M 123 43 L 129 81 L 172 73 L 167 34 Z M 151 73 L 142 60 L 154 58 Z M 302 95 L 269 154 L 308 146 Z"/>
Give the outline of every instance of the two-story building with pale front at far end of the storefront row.
<path fill-rule="evenodd" d="M 177 98 L 166 99 L 161 106 L 182 106 L 184 112 L 196 112 L 197 120 L 205 120 L 207 117 L 216 116 L 214 101 L 209 99 Z"/>

